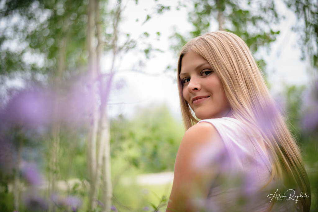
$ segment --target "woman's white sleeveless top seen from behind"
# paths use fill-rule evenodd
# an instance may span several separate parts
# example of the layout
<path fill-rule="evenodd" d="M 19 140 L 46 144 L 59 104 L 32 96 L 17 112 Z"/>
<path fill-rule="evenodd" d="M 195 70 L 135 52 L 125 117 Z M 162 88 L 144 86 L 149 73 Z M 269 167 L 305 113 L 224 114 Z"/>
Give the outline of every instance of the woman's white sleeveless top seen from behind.
<path fill-rule="evenodd" d="M 230 117 L 199 122 L 211 123 L 225 146 L 224 151 L 214 158 L 220 171 L 211 185 L 204 210 L 268 211 L 271 198 L 267 197 L 277 189 L 273 180 L 269 182 L 272 166 L 249 128 Z M 198 202 L 202 203 L 202 200 Z M 296 206 L 295 201 L 280 200 L 275 202 L 271 211 L 297 211 Z"/>

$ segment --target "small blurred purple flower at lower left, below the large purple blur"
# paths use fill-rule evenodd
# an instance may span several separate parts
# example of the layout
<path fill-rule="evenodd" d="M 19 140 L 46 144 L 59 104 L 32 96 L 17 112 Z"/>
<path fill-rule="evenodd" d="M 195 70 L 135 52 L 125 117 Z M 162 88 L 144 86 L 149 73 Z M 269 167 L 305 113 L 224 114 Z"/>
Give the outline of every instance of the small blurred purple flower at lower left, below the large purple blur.
<path fill-rule="evenodd" d="M 39 186 L 42 184 L 42 175 L 38 171 L 38 168 L 35 163 L 22 163 L 21 172 L 25 180 L 30 185 Z"/>

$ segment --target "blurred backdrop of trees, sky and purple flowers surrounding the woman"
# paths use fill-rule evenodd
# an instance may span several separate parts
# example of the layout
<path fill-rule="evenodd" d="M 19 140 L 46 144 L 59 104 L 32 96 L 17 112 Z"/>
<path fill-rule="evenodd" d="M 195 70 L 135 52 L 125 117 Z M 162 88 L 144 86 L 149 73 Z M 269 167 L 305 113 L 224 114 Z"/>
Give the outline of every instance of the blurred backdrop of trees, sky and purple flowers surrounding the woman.
<path fill-rule="evenodd" d="M 318 210 L 312 0 L 0 0 L 0 211 L 164 211 L 184 128 L 177 55 L 227 30 L 299 143 Z"/>

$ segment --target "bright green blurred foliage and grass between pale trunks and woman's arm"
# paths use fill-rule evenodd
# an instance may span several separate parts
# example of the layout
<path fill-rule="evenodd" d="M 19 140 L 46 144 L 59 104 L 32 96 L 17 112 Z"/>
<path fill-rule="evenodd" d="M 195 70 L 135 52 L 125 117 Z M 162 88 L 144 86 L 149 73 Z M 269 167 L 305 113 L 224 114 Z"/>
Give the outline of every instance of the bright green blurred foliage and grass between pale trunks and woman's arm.
<path fill-rule="evenodd" d="M 113 203 L 119 211 L 166 207 L 171 185 L 138 185 L 140 173 L 172 171 L 184 129 L 166 105 L 111 120 Z M 128 191 L 133 191 L 133 194 Z"/>

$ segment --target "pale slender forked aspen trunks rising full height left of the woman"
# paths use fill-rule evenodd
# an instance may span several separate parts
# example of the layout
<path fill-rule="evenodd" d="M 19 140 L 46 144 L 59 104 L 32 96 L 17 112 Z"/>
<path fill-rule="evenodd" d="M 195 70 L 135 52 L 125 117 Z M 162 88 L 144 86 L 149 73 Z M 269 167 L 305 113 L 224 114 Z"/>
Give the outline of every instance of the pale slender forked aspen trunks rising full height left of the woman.
<path fill-rule="evenodd" d="M 121 15 L 121 1 L 117 2 L 113 19 L 113 39 L 111 42 L 113 60 L 111 70 L 105 80 L 105 74 L 100 71 L 100 58 L 103 49 L 101 39 L 101 19 L 99 0 L 90 0 L 88 4 L 88 27 L 87 43 L 89 53 L 90 95 L 92 97 L 93 109 L 90 119 L 90 132 L 88 138 L 88 165 L 90 173 L 90 204 L 91 210 L 97 208 L 99 191 L 102 191 L 103 211 L 108 212 L 111 208 L 113 188 L 111 179 L 110 163 L 110 132 L 109 118 L 107 115 L 107 100 L 114 75 L 114 63 L 118 53 L 118 23 Z M 95 34 L 96 27 L 96 34 Z M 93 43 L 97 43 L 96 48 Z M 99 92 L 95 85 L 99 81 Z M 100 105 L 97 105 L 96 95 L 99 95 Z M 99 106 L 99 107 L 98 107 Z M 102 185 L 102 189 L 100 189 Z"/>

